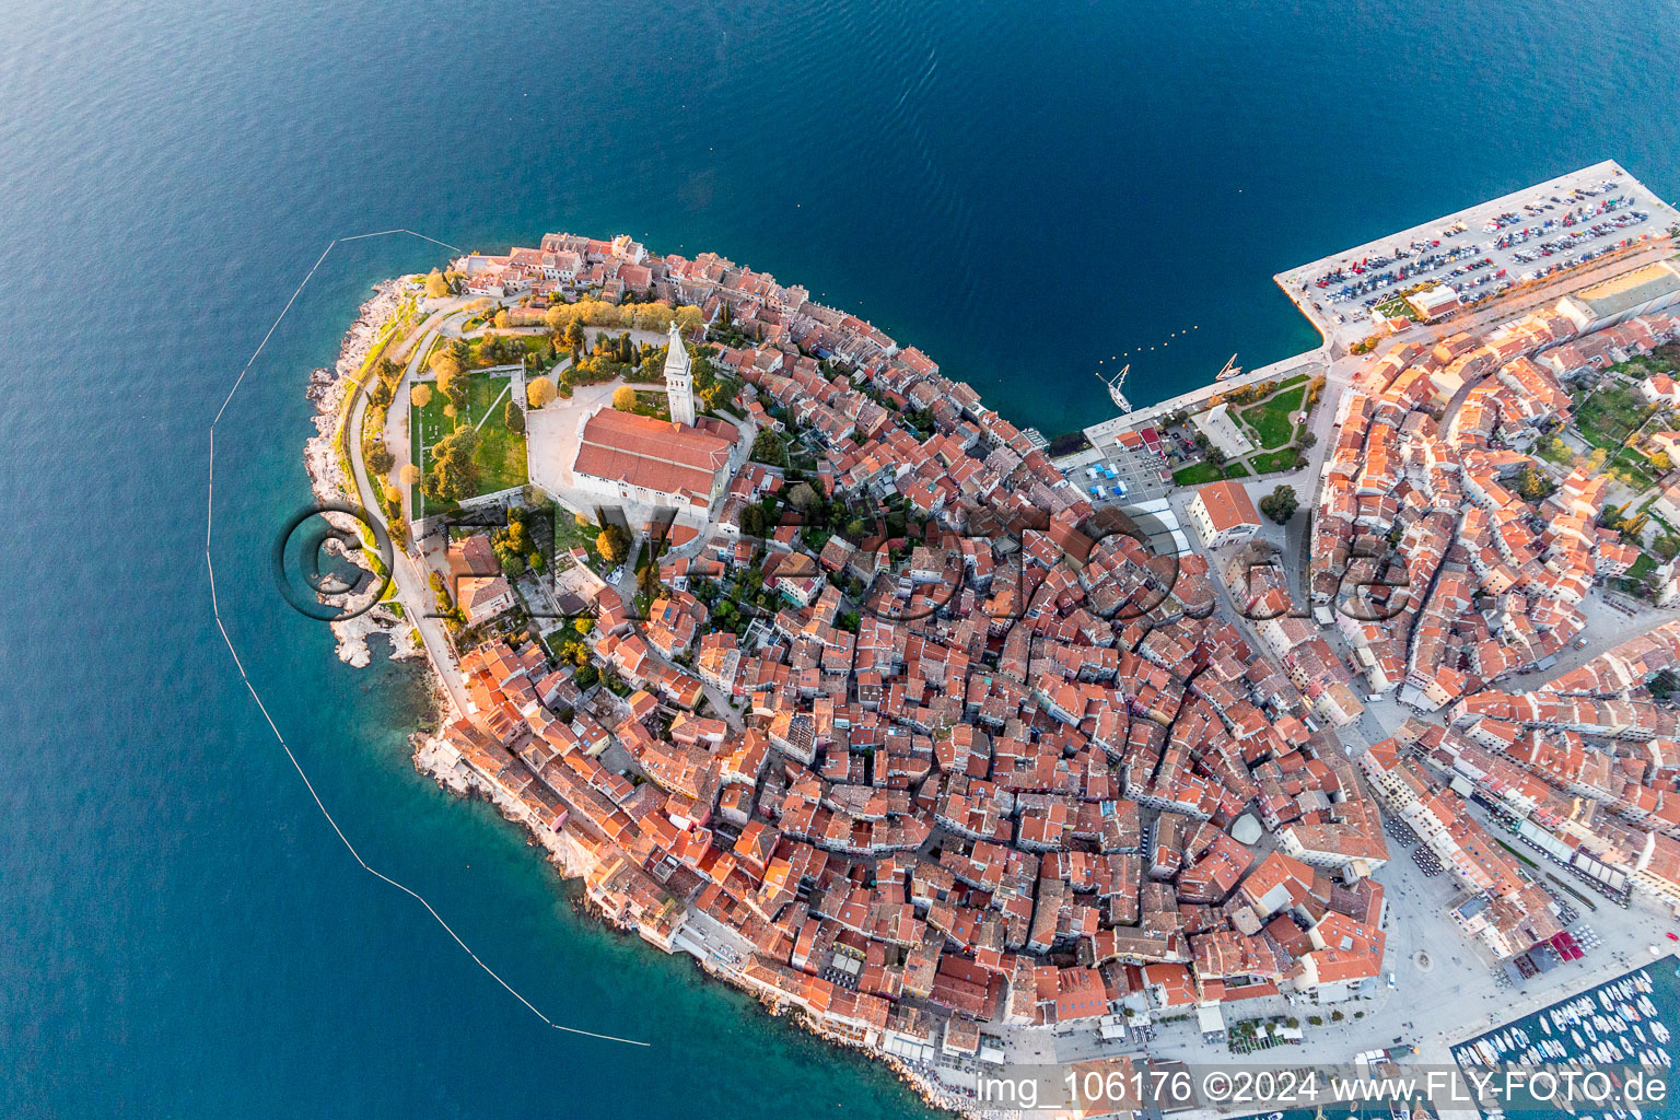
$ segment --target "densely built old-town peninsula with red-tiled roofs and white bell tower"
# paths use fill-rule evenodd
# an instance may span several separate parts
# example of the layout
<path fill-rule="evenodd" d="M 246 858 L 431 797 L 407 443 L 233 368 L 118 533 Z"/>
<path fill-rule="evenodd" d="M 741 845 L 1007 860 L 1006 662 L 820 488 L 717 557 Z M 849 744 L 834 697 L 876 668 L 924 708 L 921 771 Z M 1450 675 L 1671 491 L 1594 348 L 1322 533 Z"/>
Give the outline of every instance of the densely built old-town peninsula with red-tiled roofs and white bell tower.
<path fill-rule="evenodd" d="M 605 920 L 946 1107 L 1448 1063 L 1673 944 L 1677 222 L 1603 163 L 1379 238 L 1055 443 L 714 254 L 469 254 L 316 386 L 396 541 L 343 636 Z"/>

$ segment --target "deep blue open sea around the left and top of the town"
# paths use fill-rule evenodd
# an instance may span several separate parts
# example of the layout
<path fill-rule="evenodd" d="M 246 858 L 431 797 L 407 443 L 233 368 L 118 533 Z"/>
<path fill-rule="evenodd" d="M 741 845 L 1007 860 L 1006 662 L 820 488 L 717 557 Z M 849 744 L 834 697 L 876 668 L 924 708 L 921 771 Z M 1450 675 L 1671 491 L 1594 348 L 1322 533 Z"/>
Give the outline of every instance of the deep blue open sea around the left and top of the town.
<path fill-rule="evenodd" d="M 1606 156 L 1680 195 L 1680 7 L 10 0 L 0 35 L 0 1115 L 899 1117 L 877 1068 L 573 915 L 408 766 L 264 556 L 336 252 L 220 430 L 223 615 L 370 861 L 232 673 L 207 427 L 331 237 L 630 232 L 798 280 L 1021 423 L 1314 343 L 1278 269 Z"/>

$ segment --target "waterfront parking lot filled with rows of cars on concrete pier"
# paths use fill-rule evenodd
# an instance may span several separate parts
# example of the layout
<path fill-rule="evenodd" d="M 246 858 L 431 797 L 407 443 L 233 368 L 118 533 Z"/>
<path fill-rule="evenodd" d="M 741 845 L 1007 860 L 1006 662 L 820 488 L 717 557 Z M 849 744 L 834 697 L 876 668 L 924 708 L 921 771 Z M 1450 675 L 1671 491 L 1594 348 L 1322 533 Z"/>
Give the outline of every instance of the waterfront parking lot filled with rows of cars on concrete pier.
<path fill-rule="evenodd" d="M 1445 284 L 1475 306 L 1519 284 L 1662 237 L 1680 212 L 1606 160 L 1273 277 L 1344 344 L 1373 332 L 1373 311 Z"/>

